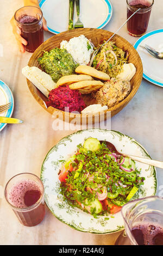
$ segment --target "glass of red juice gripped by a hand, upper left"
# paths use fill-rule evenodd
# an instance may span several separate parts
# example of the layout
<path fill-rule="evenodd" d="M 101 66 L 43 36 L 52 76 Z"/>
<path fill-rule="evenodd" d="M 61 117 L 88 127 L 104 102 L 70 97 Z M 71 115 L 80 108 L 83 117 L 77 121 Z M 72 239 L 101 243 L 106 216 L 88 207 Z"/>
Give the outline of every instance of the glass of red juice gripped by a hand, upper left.
<path fill-rule="evenodd" d="M 21 36 L 27 40 L 26 51 L 34 52 L 43 42 L 43 15 L 38 7 L 25 6 L 15 13 L 17 26 L 21 29 Z"/>

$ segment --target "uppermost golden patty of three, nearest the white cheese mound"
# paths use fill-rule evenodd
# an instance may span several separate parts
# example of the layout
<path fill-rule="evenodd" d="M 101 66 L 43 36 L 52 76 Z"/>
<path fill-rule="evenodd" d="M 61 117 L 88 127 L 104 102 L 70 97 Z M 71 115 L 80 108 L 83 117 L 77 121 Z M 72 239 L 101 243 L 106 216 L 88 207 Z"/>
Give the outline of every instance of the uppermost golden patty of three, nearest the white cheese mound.
<path fill-rule="evenodd" d="M 76 68 L 76 73 L 78 74 L 85 74 L 85 75 L 90 75 L 92 77 L 96 77 L 100 80 L 103 81 L 108 81 L 110 80 L 110 76 L 102 71 L 99 71 L 95 68 L 92 68 L 91 66 L 87 65 L 80 65 Z"/>

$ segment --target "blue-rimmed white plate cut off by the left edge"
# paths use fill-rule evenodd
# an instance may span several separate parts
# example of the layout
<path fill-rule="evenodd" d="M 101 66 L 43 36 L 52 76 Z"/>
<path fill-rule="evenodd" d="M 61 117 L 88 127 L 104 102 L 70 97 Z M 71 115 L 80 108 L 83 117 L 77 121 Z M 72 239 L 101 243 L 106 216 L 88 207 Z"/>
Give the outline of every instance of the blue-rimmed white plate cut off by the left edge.
<path fill-rule="evenodd" d="M 0 113 L 0 117 L 11 117 L 12 112 L 14 110 L 14 97 L 10 88 L 5 84 L 2 80 L 0 80 L 0 106 L 11 102 L 11 107 L 7 109 L 5 112 Z M 7 124 L 0 123 L 0 131 Z"/>

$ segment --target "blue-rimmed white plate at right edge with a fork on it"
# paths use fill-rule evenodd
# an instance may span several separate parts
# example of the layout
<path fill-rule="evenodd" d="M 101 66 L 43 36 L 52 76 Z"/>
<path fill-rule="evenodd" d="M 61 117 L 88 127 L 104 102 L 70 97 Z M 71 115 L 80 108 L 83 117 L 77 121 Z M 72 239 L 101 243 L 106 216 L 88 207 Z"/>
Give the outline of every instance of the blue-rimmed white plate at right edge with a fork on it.
<path fill-rule="evenodd" d="M 149 32 L 139 38 L 134 47 L 140 55 L 143 64 L 143 78 L 147 81 L 163 87 L 163 60 L 156 59 L 140 45 L 149 45 L 156 51 L 163 52 L 163 29 Z"/>

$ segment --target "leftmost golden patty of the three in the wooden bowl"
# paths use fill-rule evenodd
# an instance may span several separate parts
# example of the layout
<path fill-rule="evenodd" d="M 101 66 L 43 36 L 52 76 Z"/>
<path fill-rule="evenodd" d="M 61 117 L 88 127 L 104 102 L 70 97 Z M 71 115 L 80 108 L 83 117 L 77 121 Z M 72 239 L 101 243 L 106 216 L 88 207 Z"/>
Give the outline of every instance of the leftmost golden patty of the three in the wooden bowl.
<path fill-rule="evenodd" d="M 72 83 L 80 82 L 80 81 L 91 81 L 93 80 L 93 77 L 89 75 L 68 75 L 68 76 L 62 76 L 58 82 L 57 82 L 57 87 L 58 86 L 65 86 L 69 85 Z"/>

